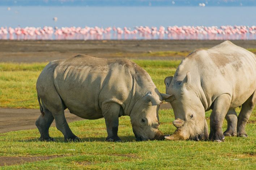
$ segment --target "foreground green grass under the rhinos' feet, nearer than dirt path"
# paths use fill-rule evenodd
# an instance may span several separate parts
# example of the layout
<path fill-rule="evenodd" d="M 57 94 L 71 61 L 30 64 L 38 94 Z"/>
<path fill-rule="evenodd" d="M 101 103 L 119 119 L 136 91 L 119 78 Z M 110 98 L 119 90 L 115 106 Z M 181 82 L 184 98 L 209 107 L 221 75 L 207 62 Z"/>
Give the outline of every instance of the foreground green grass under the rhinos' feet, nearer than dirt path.
<path fill-rule="evenodd" d="M 239 111 L 239 109 L 237 110 Z M 255 120 L 256 109 L 252 113 Z M 206 113 L 209 124 L 210 112 Z M 160 130 L 175 131 L 172 110 L 159 112 Z M 107 136 L 103 119 L 83 120 L 69 124 L 73 133 L 82 139 L 65 143 L 55 127 L 50 135 L 57 142 L 38 142 L 37 129 L 21 130 L 0 135 L 1 156 L 61 157 L 46 161 L 2 167 L 3 169 L 255 169 L 256 125 L 246 126 L 248 138 L 226 137 L 225 142 L 145 141 L 135 142 L 128 116 L 119 118 L 119 137 L 122 143 L 104 142 Z M 226 129 L 226 122 L 223 130 Z"/>

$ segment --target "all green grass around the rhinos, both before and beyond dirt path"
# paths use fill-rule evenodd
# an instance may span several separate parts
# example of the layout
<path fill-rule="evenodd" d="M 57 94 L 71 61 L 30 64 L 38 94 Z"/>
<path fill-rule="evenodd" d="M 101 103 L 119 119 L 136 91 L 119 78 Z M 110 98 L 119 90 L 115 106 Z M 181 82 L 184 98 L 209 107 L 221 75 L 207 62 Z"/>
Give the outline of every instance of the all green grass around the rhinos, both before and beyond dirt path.
<path fill-rule="evenodd" d="M 135 61 L 143 67 L 162 93 L 163 80 L 173 75 L 180 61 Z M 0 63 L 0 107 L 38 108 L 35 82 L 47 63 Z M 236 110 L 239 113 L 239 108 Z M 0 169 L 256 169 L 256 108 L 246 126 L 248 138 L 226 137 L 225 142 L 146 141 L 135 142 L 128 116 L 119 118 L 122 143 L 104 142 L 103 119 L 70 123 L 78 143 L 65 143 L 55 127 L 56 142 L 38 142 L 37 129 L 0 134 L 1 157 L 58 156 L 46 161 L 3 166 Z M 210 112 L 206 112 L 209 125 Z M 174 114 L 159 112 L 160 130 L 172 134 Z M 226 129 L 226 121 L 223 131 Z"/>

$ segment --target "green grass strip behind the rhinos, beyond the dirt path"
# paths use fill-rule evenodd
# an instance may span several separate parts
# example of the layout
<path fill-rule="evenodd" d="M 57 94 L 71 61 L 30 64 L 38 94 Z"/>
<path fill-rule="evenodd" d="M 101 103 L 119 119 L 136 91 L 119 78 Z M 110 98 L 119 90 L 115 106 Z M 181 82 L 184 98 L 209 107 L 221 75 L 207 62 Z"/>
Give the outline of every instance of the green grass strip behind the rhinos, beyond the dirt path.
<path fill-rule="evenodd" d="M 165 77 L 174 75 L 180 61 L 135 60 L 165 93 Z M 47 63 L 0 63 L 0 107 L 38 108 L 35 84 Z"/>

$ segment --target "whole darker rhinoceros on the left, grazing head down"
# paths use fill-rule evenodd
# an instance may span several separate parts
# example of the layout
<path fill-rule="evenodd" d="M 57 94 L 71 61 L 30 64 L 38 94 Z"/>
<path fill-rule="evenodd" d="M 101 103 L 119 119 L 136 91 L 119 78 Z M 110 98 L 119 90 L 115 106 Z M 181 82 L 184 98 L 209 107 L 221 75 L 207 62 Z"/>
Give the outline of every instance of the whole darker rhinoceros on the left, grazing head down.
<path fill-rule="evenodd" d="M 54 140 L 48 131 L 54 119 L 65 141 L 80 140 L 67 124 L 66 108 L 85 119 L 104 117 L 106 141 L 121 141 L 118 118 L 125 115 L 131 117 L 136 140 L 164 139 L 158 130 L 158 109 L 170 95 L 162 97 L 148 73 L 127 59 L 77 55 L 52 61 L 38 77 L 37 94 L 42 112 L 36 121 L 40 140 Z"/>

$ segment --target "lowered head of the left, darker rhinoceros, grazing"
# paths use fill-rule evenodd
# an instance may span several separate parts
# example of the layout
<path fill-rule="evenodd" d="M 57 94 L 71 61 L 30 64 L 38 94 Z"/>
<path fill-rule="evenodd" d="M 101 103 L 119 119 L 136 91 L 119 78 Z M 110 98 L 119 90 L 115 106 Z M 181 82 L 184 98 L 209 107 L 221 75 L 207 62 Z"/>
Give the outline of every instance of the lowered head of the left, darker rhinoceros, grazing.
<path fill-rule="evenodd" d="M 161 95 L 163 97 L 161 97 Z M 161 95 L 155 96 L 151 93 L 148 93 L 143 98 L 138 100 L 133 106 L 130 117 L 133 133 L 135 134 L 137 141 L 165 139 L 163 133 L 158 130 L 160 125 L 158 109 L 162 103 L 160 99 L 165 99 L 170 95 Z"/>

